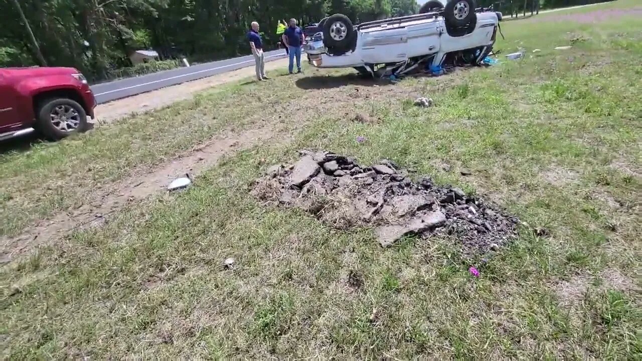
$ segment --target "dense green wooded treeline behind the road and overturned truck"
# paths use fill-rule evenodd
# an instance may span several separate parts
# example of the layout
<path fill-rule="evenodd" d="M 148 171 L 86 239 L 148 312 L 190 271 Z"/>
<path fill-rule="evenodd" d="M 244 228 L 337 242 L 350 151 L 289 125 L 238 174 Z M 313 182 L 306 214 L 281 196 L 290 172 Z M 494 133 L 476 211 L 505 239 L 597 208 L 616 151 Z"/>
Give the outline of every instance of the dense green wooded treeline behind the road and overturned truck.
<path fill-rule="evenodd" d="M 593 0 L 544 1 L 550 7 Z M 279 19 L 308 24 L 344 13 L 363 22 L 418 8 L 415 0 L 0 0 L 0 66 L 71 66 L 101 80 L 130 66 L 135 49 L 197 61 L 247 54 L 252 21 L 273 46 Z"/>

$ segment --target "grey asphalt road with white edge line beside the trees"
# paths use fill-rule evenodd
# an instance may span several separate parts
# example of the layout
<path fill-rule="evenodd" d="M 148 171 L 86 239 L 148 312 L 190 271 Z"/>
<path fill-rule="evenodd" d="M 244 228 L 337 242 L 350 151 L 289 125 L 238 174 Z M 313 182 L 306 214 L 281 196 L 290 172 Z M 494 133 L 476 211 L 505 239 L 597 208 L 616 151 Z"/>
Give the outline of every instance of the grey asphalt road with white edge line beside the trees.
<path fill-rule="evenodd" d="M 265 61 L 276 60 L 286 57 L 285 50 L 266 51 Z M 135 78 L 126 78 L 115 80 L 114 82 L 91 85 L 91 90 L 96 96 L 99 104 L 107 103 L 120 98 L 126 98 L 143 92 L 154 91 L 170 85 L 191 82 L 192 80 L 205 78 L 207 76 L 217 75 L 241 69 L 254 64 L 254 57 L 246 55 L 245 57 L 218 60 L 205 64 L 198 64 L 191 67 L 180 67 L 178 69 L 160 71 Z"/>

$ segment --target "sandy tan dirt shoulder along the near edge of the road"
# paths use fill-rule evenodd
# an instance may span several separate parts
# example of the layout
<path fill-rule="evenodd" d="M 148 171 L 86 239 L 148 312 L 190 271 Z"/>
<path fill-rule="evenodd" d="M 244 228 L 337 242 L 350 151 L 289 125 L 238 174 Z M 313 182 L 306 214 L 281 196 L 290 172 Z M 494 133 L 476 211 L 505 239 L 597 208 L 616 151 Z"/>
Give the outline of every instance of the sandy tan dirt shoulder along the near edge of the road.
<path fill-rule="evenodd" d="M 274 71 L 287 65 L 287 59 L 273 60 L 265 64 L 265 70 L 268 72 Z M 148 110 L 158 109 L 175 101 L 189 99 L 194 96 L 196 92 L 204 91 L 216 85 L 235 82 L 244 78 L 251 78 L 253 81 L 254 78 L 252 76 L 254 76 L 254 65 L 219 75 L 208 76 L 207 78 L 194 80 L 193 82 L 173 85 L 144 94 L 130 96 L 129 98 L 110 101 L 109 103 L 104 103 L 96 107 L 96 116 L 98 117 L 96 123 L 98 125 L 110 123 L 115 119 L 123 118 L 135 112 L 146 112 Z"/>

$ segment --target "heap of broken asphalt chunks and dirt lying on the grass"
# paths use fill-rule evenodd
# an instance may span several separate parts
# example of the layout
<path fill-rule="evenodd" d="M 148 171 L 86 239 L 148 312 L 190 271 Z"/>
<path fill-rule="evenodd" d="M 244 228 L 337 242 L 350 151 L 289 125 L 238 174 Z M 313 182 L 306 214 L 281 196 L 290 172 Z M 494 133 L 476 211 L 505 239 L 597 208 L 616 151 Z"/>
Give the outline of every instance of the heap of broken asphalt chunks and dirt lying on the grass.
<path fill-rule="evenodd" d="M 429 177 L 413 182 L 390 161 L 362 166 L 351 157 L 302 151 L 295 164 L 277 164 L 254 182 L 268 204 L 299 207 L 338 229 L 372 226 L 383 247 L 408 234 L 452 236 L 467 254 L 508 243 L 519 220 L 459 188 Z"/>

